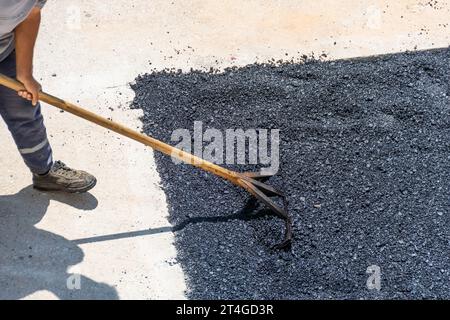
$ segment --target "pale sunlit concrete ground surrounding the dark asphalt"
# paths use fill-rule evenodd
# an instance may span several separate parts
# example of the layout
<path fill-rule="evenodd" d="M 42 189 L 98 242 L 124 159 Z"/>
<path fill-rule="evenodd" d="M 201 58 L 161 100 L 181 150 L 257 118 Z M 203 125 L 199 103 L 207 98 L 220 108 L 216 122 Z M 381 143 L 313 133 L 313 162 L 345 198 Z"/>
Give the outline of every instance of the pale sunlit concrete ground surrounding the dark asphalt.
<path fill-rule="evenodd" d="M 139 128 L 140 112 L 128 108 L 139 73 L 446 47 L 450 4 L 428 3 L 49 0 L 35 73 L 45 91 Z M 0 123 L 0 298 L 183 298 L 152 151 L 50 106 L 44 113 L 55 156 L 99 184 L 82 196 L 32 190 Z"/>

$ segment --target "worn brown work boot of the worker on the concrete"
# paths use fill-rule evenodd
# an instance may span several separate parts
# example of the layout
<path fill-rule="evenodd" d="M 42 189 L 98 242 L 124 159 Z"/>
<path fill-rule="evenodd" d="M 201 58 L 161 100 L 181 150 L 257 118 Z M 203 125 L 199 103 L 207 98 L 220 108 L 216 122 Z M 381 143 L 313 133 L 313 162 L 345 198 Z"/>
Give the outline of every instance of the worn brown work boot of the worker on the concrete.
<path fill-rule="evenodd" d="M 56 161 L 47 174 L 33 174 L 33 187 L 43 191 L 83 193 L 91 190 L 97 180 L 87 172 L 70 169 Z"/>

